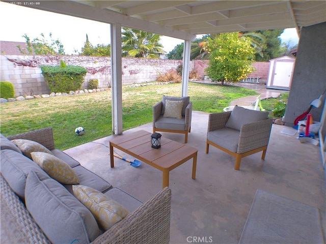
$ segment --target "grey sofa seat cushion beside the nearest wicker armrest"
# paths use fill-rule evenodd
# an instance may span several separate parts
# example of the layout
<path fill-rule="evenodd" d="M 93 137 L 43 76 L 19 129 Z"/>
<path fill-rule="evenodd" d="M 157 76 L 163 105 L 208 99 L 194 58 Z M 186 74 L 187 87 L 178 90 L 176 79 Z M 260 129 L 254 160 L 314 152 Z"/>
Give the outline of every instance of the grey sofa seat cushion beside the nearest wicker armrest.
<path fill-rule="evenodd" d="M 105 192 L 105 195 L 112 200 L 122 203 L 123 206 L 129 210 L 129 212 L 133 212 L 143 205 L 142 201 L 116 187 Z"/>

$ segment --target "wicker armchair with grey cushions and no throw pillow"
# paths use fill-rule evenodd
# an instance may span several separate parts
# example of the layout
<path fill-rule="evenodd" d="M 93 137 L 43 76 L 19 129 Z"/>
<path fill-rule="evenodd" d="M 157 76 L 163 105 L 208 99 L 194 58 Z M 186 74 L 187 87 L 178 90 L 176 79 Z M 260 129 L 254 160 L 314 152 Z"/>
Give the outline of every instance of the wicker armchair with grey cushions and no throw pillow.
<path fill-rule="evenodd" d="M 267 118 L 268 112 L 238 107 L 237 111 L 239 112 L 239 110 L 242 116 L 237 112 L 233 112 L 234 110 L 209 114 L 206 140 L 206 154 L 208 154 L 209 145 L 225 151 L 235 157 L 235 170 L 239 170 L 241 158 L 258 153 L 259 151 L 262 151 L 261 159 L 265 159 L 271 124 L 273 124 L 273 119 Z M 238 127 L 239 130 L 230 125 L 232 112 L 232 119 L 237 123 L 235 127 Z M 245 113 L 247 113 L 246 118 L 243 117 Z M 264 116 L 266 118 L 254 121 L 257 119 L 255 117 L 257 114 L 260 118 Z M 249 120 L 252 121 L 249 122 Z"/>

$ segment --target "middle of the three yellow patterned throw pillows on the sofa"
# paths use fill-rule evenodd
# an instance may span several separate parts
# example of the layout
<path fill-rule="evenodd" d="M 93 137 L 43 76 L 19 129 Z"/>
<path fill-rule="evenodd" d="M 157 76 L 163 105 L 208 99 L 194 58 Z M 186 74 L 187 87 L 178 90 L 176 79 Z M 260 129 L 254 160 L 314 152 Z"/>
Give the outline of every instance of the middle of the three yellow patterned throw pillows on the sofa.
<path fill-rule="evenodd" d="M 78 176 L 73 169 L 56 156 L 43 153 L 41 151 L 31 153 L 32 159 L 51 178 L 62 184 L 79 184 Z"/>

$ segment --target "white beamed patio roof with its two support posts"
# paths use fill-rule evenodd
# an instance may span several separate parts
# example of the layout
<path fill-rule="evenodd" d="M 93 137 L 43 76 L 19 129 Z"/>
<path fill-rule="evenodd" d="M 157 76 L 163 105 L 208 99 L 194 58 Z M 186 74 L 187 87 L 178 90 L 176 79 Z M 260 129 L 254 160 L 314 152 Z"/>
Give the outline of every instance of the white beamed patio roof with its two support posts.
<path fill-rule="evenodd" d="M 4 1 L 10 2 L 10 1 Z M 122 134 L 121 26 L 185 41 L 181 96 L 191 41 L 200 34 L 302 27 L 326 22 L 326 1 L 38 1 L 22 5 L 111 24 L 112 125 Z"/>

